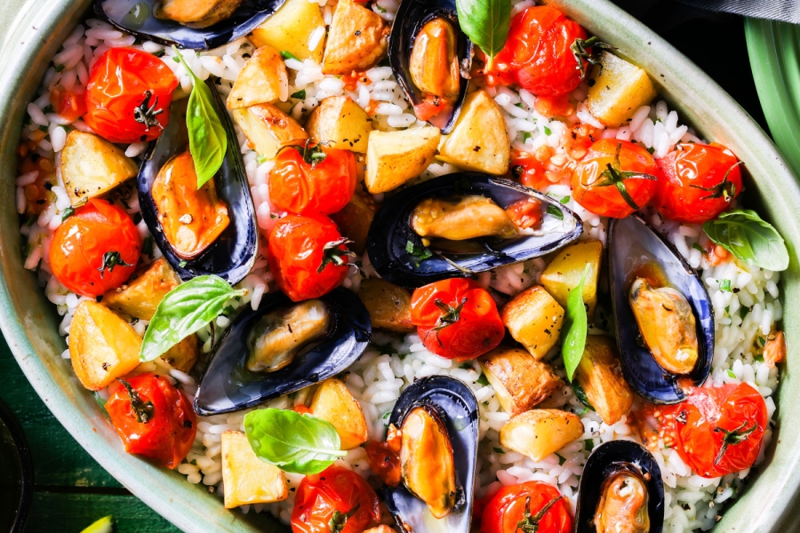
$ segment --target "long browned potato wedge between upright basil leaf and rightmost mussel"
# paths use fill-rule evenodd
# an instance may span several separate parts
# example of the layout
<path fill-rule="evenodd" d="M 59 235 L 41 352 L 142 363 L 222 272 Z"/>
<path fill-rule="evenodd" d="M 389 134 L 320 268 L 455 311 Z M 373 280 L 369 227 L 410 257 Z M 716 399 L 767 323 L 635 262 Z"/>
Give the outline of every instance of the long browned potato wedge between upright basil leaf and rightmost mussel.
<path fill-rule="evenodd" d="M 611 338 L 599 335 L 586 338 L 575 380 L 597 415 L 609 426 L 619 422 L 630 411 L 633 392 L 622 376 L 617 346 Z"/>

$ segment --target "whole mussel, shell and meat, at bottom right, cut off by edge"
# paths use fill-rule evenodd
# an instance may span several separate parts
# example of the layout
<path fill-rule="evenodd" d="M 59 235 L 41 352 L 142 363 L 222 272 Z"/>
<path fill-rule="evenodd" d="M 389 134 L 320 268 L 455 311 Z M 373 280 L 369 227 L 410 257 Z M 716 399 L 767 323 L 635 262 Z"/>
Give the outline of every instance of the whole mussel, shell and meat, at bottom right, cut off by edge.
<path fill-rule="evenodd" d="M 589 456 L 580 477 L 576 533 L 660 533 L 664 482 L 640 444 L 611 441 Z"/>

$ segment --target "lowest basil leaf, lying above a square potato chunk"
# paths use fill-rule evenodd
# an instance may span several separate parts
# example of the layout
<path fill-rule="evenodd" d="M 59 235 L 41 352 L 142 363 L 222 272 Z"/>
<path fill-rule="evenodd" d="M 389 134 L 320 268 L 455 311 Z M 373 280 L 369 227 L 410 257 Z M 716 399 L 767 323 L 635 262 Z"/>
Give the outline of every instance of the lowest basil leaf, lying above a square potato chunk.
<path fill-rule="evenodd" d="M 284 472 L 320 473 L 348 455 L 330 422 L 293 410 L 251 411 L 244 417 L 244 434 L 256 456 Z"/>

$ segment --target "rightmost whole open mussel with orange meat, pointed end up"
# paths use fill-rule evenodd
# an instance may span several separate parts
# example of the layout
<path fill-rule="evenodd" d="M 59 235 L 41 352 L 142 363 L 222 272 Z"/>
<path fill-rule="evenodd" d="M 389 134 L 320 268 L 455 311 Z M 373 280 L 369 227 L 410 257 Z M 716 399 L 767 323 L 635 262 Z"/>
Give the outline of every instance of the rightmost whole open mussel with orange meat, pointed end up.
<path fill-rule="evenodd" d="M 608 272 L 628 384 L 654 403 L 684 400 L 708 378 L 714 308 L 700 276 L 644 219 L 612 219 Z"/>

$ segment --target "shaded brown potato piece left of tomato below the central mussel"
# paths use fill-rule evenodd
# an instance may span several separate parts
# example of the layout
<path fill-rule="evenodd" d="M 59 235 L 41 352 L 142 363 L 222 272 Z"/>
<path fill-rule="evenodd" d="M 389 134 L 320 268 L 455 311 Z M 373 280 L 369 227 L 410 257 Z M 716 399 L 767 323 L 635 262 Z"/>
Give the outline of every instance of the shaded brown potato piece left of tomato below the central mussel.
<path fill-rule="evenodd" d="M 358 298 L 370 312 L 373 328 L 411 333 L 416 327 L 411 322 L 411 293 L 403 287 L 379 278 L 361 282 Z"/>

